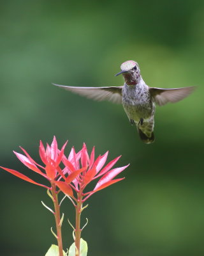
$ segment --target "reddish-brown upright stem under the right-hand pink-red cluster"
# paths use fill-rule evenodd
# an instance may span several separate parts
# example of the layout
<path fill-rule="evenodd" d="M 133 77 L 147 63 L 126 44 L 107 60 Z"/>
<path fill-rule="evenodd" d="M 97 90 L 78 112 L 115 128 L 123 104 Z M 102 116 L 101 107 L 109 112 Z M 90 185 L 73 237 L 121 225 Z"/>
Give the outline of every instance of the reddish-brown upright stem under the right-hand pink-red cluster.
<path fill-rule="evenodd" d="M 80 238 L 81 238 L 81 232 L 80 229 L 80 219 L 81 219 L 81 213 L 82 213 L 82 191 L 79 191 L 78 193 L 78 200 L 77 200 L 77 206 L 76 206 L 76 228 L 75 228 L 75 256 L 80 256 Z"/>

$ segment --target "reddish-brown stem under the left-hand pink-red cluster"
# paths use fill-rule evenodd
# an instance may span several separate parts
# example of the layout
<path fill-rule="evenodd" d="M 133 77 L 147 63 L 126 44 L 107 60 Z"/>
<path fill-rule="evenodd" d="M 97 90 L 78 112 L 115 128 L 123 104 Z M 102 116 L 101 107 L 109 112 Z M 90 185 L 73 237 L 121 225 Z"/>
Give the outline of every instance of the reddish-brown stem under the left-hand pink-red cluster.
<path fill-rule="evenodd" d="M 63 256 L 63 248 L 62 248 L 62 231 L 61 231 L 61 223 L 60 223 L 60 206 L 58 202 L 58 196 L 56 191 L 56 186 L 54 183 L 52 183 L 52 196 L 53 196 L 53 202 L 55 207 L 55 224 L 57 229 L 57 243 L 59 248 L 59 256 Z"/>

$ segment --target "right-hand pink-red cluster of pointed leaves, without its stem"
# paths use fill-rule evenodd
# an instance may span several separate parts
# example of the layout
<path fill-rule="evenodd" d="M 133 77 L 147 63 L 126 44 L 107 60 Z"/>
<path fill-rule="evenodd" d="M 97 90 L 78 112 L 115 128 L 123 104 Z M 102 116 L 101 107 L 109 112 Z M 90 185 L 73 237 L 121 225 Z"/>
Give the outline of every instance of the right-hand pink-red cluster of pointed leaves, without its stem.
<path fill-rule="evenodd" d="M 105 167 L 103 167 L 107 156 L 108 151 L 103 156 L 98 156 L 97 159 L 94 160 L 94 147 L 92 148 L 91 156 L 89 157 L 85 143 L 82 147 L 82 150 L 80 150 L 78 153 L 75 152 L 75 148 L 72 148 L 68 158 L 66 158 L 64 155 L 62 156 L 62 163 L 64 163 L 64 166 L 66 166 L 62 172 L 64 175 L 68 174 L 68 177 L 64 181 L 55 181 L 55 184 L 57 184 L 61 191 L 63 191 L 66 195 L 70 195 L 71 186 L 71 188 L 73 188 L 77 194 L 81 193 L 82 196 L 85 196 L 82 200 L 82 202 L 84 202 L 93 193 L 96 193 L 97 191 L 124 179 L 113 178 L 124 169 L 126 169 L 129 164 L 123 167 L 112 169 L 113 165 L 119 160 L 119 156 L 113 159 L 110 163 L 106 164 Z M 81 171 L 77 176 L 75 176 L 75 179 L 69 179 L 73 173 L 80 169 L 80 166 L 82 169 L 84 169 L 84 171 Z M 98 180 L 95 188 L 92 191 L 83 193 L 87 184 L 99 177 L 101 178 Z M 72 184 L 70 184 L 70 180 L 72 180 Z M 77 198 L 75 198 L 75 200 L 77 200 Z"/>

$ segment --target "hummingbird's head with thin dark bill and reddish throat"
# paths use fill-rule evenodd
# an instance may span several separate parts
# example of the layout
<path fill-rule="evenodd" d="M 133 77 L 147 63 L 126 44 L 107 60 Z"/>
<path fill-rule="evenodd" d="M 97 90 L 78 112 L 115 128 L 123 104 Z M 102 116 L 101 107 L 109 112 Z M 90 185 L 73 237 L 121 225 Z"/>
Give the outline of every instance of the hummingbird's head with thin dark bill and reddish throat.
<path fill-rule="evenodd" d="M 115 76 L 122 74 L 126 84 L 133 85 L 140 81 L 140 67 L 134 60 L 128 60 L 120 66 L 121 71 Z"/>

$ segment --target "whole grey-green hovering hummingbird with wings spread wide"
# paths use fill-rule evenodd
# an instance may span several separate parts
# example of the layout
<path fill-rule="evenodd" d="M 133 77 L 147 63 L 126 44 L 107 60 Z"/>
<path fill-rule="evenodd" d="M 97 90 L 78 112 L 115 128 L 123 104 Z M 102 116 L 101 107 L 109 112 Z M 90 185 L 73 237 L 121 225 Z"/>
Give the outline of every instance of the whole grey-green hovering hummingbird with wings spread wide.
<path fill-rule="evenodd" d="M 149 87 L 142 79 L 140 67 L 136 61 L 128 60 L 120 66 L 123 86 L 110 87 L 73 87 L 54 84 L 65 90 L 78 93 L 94 100 L 109 100 L 122 103 L 132 125 L 136 125 L 140 138 L 144 143 L 154 142 L 154 113 L 155 105 L 163 106 L 168 102 L 184 99 L 194 90 L 194 86 L 184 88 L 155 88 Z"/>

